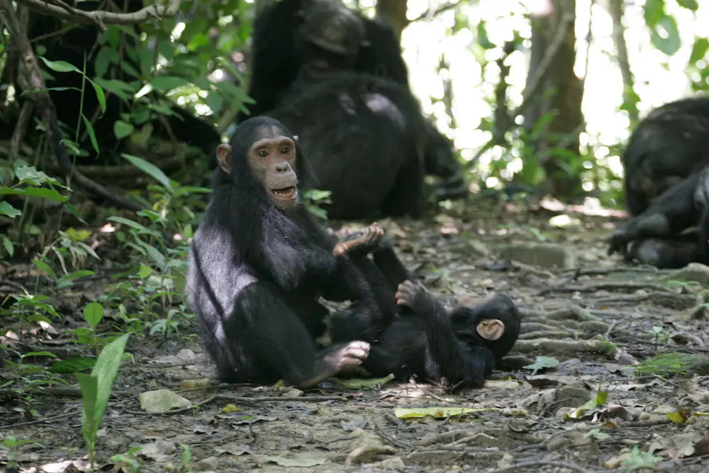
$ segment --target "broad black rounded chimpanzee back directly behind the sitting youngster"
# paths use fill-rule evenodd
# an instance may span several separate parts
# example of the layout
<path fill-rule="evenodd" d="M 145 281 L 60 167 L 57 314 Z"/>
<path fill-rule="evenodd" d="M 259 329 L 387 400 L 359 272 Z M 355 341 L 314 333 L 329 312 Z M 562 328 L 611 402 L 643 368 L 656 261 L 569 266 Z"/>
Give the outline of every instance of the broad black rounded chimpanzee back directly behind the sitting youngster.
<path fill-rule="evenodd" d="M 370 74 L 313 72 L 301 78 L 268 115 L 298 135 L 330 218 L 425 210 L 425 122 L 408 89 Z"/>

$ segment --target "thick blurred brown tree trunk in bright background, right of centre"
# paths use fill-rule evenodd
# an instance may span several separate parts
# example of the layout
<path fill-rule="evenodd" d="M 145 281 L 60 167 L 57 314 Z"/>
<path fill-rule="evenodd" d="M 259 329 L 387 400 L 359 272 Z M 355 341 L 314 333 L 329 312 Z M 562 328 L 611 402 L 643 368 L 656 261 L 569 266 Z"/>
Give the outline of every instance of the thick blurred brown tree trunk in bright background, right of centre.
<path fill-rule="evenodd" d="M 526 87 L 539 84 L 525 111 L 527 131 L 549 111 L 554 116 L 534 143 L 538 164 L 545 170 L 549 193 L 556 197 L 577 196 L 581 179 L 571 172 L 569 153 L 579 155 L 583 84 L 574 74 L 576 62 L 576 0 L 552 0 L 548 16 L 532 18 L 532 51 Z M 550 57 L 548 57 L 550 55 Z M 573 159 L 573 158 L 571 158 Z M 566 161 L 566 162 L 564 162 Z"/>

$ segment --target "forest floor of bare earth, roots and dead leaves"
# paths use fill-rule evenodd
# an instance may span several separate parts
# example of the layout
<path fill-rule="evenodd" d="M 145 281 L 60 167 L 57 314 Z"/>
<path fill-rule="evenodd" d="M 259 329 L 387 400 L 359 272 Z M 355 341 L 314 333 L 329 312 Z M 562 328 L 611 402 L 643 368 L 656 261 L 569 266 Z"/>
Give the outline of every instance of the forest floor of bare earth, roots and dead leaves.
<path fill-rule="evenodd" d="M 184 389 L 213 373 L 199 338 L 133 336 L 134 362 L 121 366 L 99 431 L 104 471 L 708 471 L 709 370 L 697 355 L 709 352 L 709 273 L 626 265 L 605 255 L 617 219 L 551 207 L 469 205 L 428 222 L 379 222 L 447 304 L 494 290 L 520 307 L 513 368 L 483 389 L 414 381 Z M 663 353 L 684 356 L 638 365 Z M 202 404 L 146 413 L 139 396 L 156 389 Z M 32 440 L 0 448 L 0 464 L 10 453 L 21 472 L 84 469 L 77 391 L 28 397 L 0 406 L 0 436 Z M 18 414 L 26 405 L 38 420 Z M 109 460 L 118 454 L 141 469 Z"/>

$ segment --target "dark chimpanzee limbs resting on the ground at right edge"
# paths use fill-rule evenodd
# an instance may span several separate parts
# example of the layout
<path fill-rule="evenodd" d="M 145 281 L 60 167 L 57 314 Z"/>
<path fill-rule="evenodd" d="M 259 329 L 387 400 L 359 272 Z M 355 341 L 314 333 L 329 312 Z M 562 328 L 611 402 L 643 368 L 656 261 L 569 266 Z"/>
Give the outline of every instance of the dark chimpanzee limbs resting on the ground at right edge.
<path fill-rule="evenodd" d="M 608 254 L 656 267 L 707 263 L 709 167 L 664 191 L 640 215 L 610 237 Z M 628 247 L 630 244 L 630 248 Z"/>

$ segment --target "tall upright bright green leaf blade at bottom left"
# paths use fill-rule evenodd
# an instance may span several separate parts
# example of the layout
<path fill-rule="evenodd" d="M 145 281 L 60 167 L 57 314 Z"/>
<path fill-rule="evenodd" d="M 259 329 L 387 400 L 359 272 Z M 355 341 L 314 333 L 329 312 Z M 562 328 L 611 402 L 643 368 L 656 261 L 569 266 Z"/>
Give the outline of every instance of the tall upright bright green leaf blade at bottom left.
<path fill-rule="evenodd" d="M 118 367 L 121 365 L 121 357 L 128 342 L 127 333 L 113 342 L 109 343 L 101 350 L 96 366 L 91 370 L 91 374 L 77 373 L 76 377 L 82 389 L 82 401 L 84 409 L 82 411 L 82 432 L 86 440 L 86 450 L 89 450 L 89 461 L 91 468 L 96 464 L 96 435 L 99 432 L 99 425 L 104 418 L 104 412 L 108 405 L 108 398 L 113 390 L 113 381 L 118 374 Z"/>

